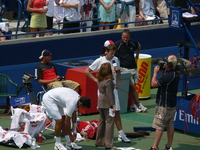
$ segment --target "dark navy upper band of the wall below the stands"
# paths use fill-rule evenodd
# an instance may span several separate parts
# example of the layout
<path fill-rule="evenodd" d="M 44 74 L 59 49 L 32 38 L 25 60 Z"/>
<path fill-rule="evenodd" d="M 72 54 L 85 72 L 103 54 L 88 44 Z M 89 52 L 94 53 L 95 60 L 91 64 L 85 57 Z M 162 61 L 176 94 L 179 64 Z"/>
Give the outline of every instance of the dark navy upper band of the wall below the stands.
<path fill-rule="evenodd" d="M 177 40 L 184 39 L 184 32 L 168 25 L 151 25 L 130 29 L 132 39 L 139 41 L 144 49 L 176 46 Z M 98 55 L 105 40 L 117 41 L 122 29 L 94 31 L 42 38 L 27 38 L 0 42 L 0 66 L 38 62 L 41 51 L 48 49 L 53 59 L 69 59 Z M 200 26 L 193 26 L 194 37 L 200 35 Z"/>

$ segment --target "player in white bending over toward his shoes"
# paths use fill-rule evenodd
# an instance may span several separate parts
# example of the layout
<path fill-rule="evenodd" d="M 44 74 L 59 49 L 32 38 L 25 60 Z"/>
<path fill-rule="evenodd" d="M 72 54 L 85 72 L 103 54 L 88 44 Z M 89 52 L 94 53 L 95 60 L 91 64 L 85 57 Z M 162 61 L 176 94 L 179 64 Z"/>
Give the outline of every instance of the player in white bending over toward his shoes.
<path fill-rule="evenodd" d="M 43 104 L 50 118 L 54 119 L 55 124 L 55 150 L 67 150 L 69 142 L 74 148 L 76 139 L 76 111 L 77 108 L 90 108 L 90 98 L 80 97 L 74 90 L 66 87 L 58 87 L 49 90 L 43 96 Z M 64 109 L 65 113 L 64 114 Z M 72 118 L 72 132 L 71 132 Z M 66 147 L 61 143 L 61 131 L 66 138 Z M 68 140 L 70 138 L 70 141 Z M 69 149 L 69 148 L 68 148 Z"/>

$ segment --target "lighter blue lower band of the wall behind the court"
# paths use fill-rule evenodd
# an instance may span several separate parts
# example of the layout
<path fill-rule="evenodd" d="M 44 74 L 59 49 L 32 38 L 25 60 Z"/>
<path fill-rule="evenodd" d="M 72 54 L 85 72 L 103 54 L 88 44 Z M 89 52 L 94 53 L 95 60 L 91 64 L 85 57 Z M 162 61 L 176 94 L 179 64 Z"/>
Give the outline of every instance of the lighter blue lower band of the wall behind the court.
<path fill-rule="evenodd" d="M 179 52 L 180 52 L 179 48 L 177 46 L 173 46 L 173 47 L 163 47 L 163 48 L 157 48 L 157 49 L 143 50 L 141 53 L 150 54 L 152 58 L 165 58 L 166 56 L 171 55 L 171 54 L 178 55 Z M 193 57 L 195 54 L 196 53 L 194 51 L 191 51 L 190 57 Z M 93 62 L 92 60 L 95 60 L 98 57 L 99 55 L 90 56 L 90 57 L 77 57 L 77 58 L 72 58 L 72 59 L 62 59 L 62 60 L 53 59 L 52 62 L 56 65 L 59 75 L 65 76 L 67 69 L 74 68 L 74 67 L 83 67 L 83 66 L 70 66 L 70 65 L 62 65 L 62 64 L 64 63 L 67 64 L 67 62 L 72 61 L 72 60 L 81 60 L 81 61 L 90 60 L 90 62 L 92 63 Z M 22 85 L 22 76 L 24 72 L 34 75 L 35 67 L 38 64 L 39 64 L 39 61 L 35 63 L 28 63 L 28 64 L 0 66 L 0 73 L 8 75 L 20 87 Z M 153 69 L 153 66 L 152 66 L 152 69 Z M 153 73 L 153 70 L 151 73 Z M 199 84 L 196 84 L 200 82 L 199 76 L 192 77 L 189 79 L 189 81 L 190 82 L 189 82 L 188 89 L 191 90 L 191 89 L 199 88 Z M 179 91 L 182 90 L 182 87 L 183 87 L 182 83 L 183 82 L 180 81 Z M 36 80 L 32 79 L 32 84 L 33 84 L 35 94 L 41 90 L 41 86 Z M 20 95 L 23 95 L 25 93 L 26 91 L 24 88 L 22 92 L 20 93 Z"/>

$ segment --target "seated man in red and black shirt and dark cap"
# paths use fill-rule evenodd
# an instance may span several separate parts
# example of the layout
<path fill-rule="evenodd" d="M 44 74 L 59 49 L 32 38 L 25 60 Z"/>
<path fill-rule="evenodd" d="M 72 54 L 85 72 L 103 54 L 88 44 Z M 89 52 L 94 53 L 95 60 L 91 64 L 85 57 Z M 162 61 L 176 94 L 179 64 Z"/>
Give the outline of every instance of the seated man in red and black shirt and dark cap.
<path fill-rule="evenodd" d="M 42 59 L 40 64 L 35 69 L 36 79 L 40 84 L 44 84 L 47 89 L 53 89 L 56 87 L 68 87 L 79 93 L 80 85 L 77 82 L 71 80 L 64 80 L 61 78 L 55 65 L 50 62 L 52 54 L 48 50 L 43 50 L 39 59 Z"/>

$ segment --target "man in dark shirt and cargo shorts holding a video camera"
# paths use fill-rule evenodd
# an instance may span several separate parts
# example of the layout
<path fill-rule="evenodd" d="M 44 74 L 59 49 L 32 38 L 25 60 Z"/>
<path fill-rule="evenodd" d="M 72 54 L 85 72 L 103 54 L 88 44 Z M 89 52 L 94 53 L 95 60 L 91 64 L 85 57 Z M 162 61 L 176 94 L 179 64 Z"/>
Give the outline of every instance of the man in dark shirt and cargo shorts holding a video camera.
<path fill-rule="evenodd" d="M 168 142 L 164 150 L 172 150 L 172 141 L 174 136 L 174 115 L 176 112 L 176 100 L 179 83 L 179 74 L 176 71 L 177 58 L 174 55 L 167 57 L 164 62 L 164 68 L 160 66 L 154 68 L 151 81 L 152 87 L 158 87 L 156 103 L 157 109 L 154 116 L 152 127 L 156 129 L 154 144 L 150 150 L 158 150 L 164 127 L 167 127 Z M 157 79 L 158 72 L 161 77 Z"/>

